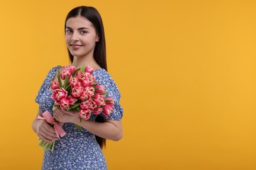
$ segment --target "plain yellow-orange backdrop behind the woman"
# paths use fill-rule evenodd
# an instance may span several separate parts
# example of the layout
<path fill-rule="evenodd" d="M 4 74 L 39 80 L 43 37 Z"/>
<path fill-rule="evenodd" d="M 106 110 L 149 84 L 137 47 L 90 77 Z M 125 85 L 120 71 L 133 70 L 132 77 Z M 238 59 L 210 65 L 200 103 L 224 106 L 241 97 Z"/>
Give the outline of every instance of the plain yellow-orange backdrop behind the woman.
<path fill-rule="evenodd" d="M 32 120 L 49 69 L 68 65 L 64 20 L 96 7 L 124 136 L 109 169 L 256 169 L 255 1 L 1 1 L 0 169 L 40 169 Z"/>

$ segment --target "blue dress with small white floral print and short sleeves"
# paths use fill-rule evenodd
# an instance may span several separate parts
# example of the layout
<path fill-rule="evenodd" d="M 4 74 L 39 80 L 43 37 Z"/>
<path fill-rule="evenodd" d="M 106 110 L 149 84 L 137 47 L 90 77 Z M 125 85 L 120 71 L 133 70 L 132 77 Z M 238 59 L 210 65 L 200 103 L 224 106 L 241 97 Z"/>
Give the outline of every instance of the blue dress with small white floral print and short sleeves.
<path fill-rule="evenodd" d="M 53 67 L 47 74 L 43 84 L 35 98 L 39 103 L 39 109 L 43 113 L 48 110 L 53 114 L 54 101 L 51 99 L 52 90 L 49 90 L 51 80 L 56 75 L 60 66 Z M 108 96 L 114 98 L 114 112 L 108 116 L 111 120 L 121 120 L 123 109 L 119 105 L 120 93 L 116 83 L 104 69 L 96 69 L 93 72 L 98 84 L 105 86 Z M 98 116 L 104 116 L 100 114 Z M 96 115 L 91 114 L 90 120 L 95 120 Z M 102 150 L 96 142 L 95 135 L 86 129 L 79 131 L 72 123 L 66 123 L 63 126 L 66 135 L 57 140 L 54 146 L 54 152 L 45 151 L 43 155 L 42 169 L 108 169 Z"/>

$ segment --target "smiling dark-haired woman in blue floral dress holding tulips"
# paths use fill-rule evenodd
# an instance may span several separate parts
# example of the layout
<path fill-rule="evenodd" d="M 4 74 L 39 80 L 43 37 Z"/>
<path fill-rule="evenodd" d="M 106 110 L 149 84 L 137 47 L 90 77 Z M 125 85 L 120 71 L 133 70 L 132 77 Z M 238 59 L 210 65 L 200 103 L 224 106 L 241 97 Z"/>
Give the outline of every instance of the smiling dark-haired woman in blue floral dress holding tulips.
<path fill-rule="evenodd" d="M 56 66 L 49 71 L 35 99 L 39 103 L 37 115 L 45 110 L 51 112 L 54 118 L 64 123 L 66 135 L 57 140 L 53 127 L 45 120 L 35 118 L 33 131 L 47 142 L 56 140 L 54 152 L 45 151 L 42 169 L 108 169 L 102 146 L 106 139 L 119 141 L 123 135 L 121 118 L 123 109 L 119 105 L 120 93 L 111 76 L 107 73 L 104 27 L 100 14 L 93 7 L 76 7 L 66 17 L 65 37 L 72 65 L 76 68 L 89 65 L 95 71 L 98 84 L 106 88 L 108 95 L 113 97 L 114 112 L 106 118 L 104 114 L 91 114 L 89 120 L 80 122 L 79 114 L 61 109 L 52 110 L 54 101 L 49 90 L 51 80 L 57 80 L 56 73 L 64 67 Z M 83 127 L 82 131 L 75 124 Z M 63 143 L 63 144 L 62 144 Z"/>

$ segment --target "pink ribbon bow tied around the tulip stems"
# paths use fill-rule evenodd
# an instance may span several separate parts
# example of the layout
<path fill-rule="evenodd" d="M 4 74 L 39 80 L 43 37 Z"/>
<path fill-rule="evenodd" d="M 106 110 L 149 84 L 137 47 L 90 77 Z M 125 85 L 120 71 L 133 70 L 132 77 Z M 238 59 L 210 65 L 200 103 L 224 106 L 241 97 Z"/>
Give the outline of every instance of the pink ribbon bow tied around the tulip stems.
<path fill-rule="evenodd" d="M 37 118 L 41 120 L 46 120 L 46 122 L 48 122 L 49 124 L 54 124 L 54 130 L 58 139 L 60 139 L 60 136 L 64 137 L 64 135 L 66 135 L 66 132 L 64 131 L 64 129 L 62 129 L 63 124 L 56 122 L 48 110 L 43 112 L 42 115 L 43 117 L 38 115 Z"/>

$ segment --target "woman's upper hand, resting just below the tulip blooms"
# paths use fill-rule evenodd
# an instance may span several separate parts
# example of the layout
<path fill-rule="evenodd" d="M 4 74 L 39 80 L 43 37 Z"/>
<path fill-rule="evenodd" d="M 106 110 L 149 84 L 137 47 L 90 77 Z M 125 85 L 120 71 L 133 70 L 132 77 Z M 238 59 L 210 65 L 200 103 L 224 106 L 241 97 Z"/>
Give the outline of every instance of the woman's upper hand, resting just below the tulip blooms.
<path fill-rule="evenodd" d="M 79 119 L 78 112 L 62 110 L 60 107 L 54 110 L 54 118 L 60 123 L 75 123 Z"/>

